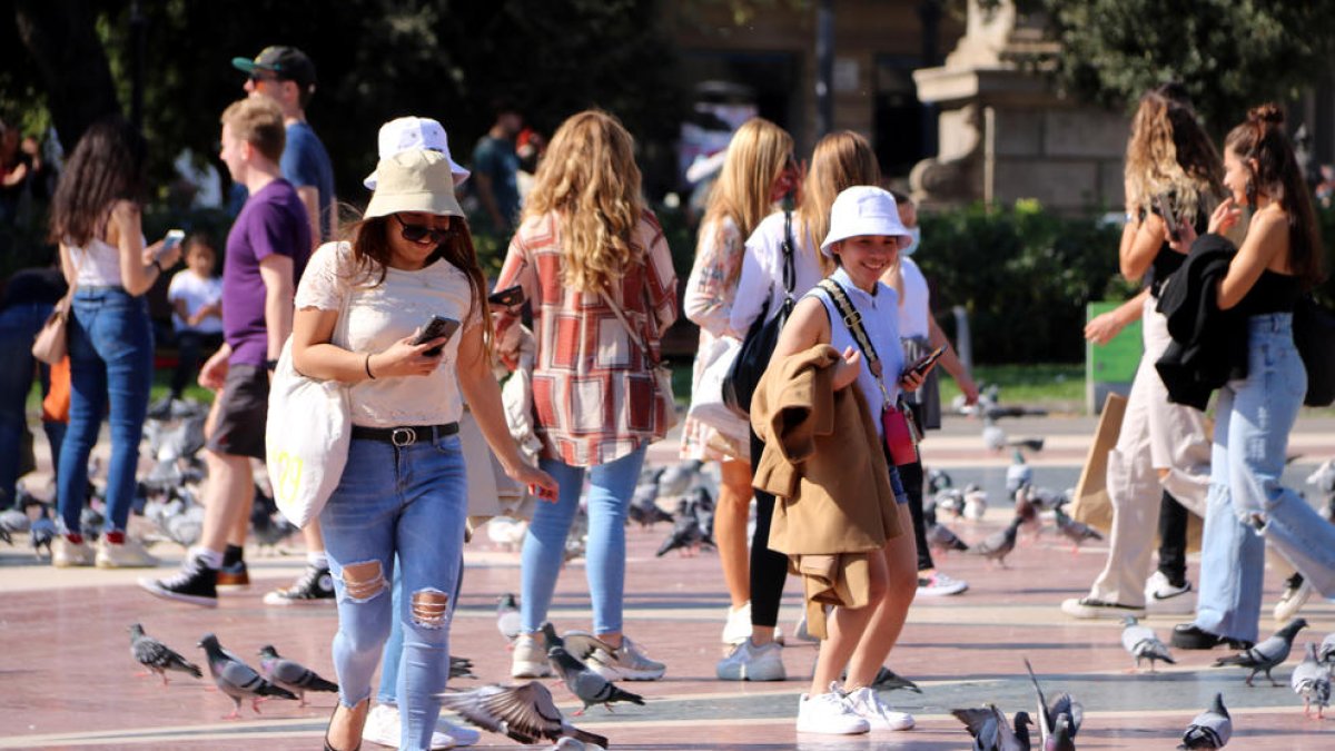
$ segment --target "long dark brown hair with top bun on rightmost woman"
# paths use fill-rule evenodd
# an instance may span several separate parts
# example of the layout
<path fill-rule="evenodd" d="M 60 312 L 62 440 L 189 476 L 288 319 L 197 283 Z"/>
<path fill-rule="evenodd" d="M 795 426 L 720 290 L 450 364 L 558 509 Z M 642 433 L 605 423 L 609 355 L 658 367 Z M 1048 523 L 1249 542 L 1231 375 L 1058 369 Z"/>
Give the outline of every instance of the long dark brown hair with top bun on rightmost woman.
<path fill-rule="evenodd" d="M 1283 124 L 1284 112 L 1275 104 L 1252 107 L 1247 120 L 1228 131 L 1224 148 L 1251 171 L 1247 203 L 1255 207 L 1256 196 L 1266 195 L 1288 215 L 1288 266 L 1303 287 L 1310 289 L 1324 278 L 1322 235 L 1312 196 Z"/>

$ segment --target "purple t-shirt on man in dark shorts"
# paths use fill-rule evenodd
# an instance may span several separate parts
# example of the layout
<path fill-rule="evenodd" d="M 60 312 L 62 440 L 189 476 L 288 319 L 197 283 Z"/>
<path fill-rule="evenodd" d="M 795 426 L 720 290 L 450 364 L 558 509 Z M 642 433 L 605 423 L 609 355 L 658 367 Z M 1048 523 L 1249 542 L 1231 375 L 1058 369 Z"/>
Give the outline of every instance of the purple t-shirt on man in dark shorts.
<path fill-rule="evenodd" d="M 279 178 L 246 200 L 227 234 L 223 261 L 223 337 L 232 347 L 232 365 L 264 365 L 264 281 L 259 262 L 272 255 L 292 259 L 292 289 L 311 255 L 311 227 L 296 190 Z"/>

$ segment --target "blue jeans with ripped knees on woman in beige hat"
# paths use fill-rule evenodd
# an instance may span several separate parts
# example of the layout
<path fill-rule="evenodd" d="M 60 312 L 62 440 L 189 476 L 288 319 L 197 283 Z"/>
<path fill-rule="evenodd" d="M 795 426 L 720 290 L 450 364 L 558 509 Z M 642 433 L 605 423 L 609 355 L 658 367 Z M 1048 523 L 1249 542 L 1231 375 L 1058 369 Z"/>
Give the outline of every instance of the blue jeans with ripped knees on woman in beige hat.
<path fill-rule="evenodd" d="M 339 486 L 320 512 L 338 597 L 339 700 L 352 707 L 371 695 L 371 676 L 398 619 L 400 748 L 430 748 L 441 712 L 466 506 L 459 437 L 429 436 L 403 448 L 354 440 Z M 398 609 L 390 585 L 396 563 L 405 592 Z"/>

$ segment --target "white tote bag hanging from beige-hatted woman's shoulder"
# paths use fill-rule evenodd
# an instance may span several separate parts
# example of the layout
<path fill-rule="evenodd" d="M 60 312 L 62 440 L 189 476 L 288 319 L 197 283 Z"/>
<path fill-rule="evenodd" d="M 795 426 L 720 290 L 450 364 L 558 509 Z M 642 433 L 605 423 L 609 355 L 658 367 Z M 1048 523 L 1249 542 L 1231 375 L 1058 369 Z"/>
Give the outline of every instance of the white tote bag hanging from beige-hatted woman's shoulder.
<path fill-rule="evenodd" d="M 264 465 L 288 521 L 306 527 L 320 514 L 343 477 L 351 438 L 347 386 L 298 373 L 288 338 L 268 388 L 264 424 Z"/>

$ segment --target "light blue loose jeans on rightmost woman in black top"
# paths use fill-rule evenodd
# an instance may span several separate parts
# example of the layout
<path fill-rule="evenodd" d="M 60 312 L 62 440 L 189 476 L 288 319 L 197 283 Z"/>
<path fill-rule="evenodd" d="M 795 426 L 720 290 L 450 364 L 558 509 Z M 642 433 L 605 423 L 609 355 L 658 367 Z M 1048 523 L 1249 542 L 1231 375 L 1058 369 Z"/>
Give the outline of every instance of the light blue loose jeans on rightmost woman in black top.
<path fill-rule="evenodd" d="M 1266 543 L 1322 595 L 1335 592 L 1335 525 L 1280 485 L 1307 393 L 1292 314 L 1247 319 L 1247 378 L 1219 390 L 1196 625 L 1256 641 Z"/>

